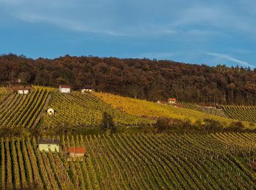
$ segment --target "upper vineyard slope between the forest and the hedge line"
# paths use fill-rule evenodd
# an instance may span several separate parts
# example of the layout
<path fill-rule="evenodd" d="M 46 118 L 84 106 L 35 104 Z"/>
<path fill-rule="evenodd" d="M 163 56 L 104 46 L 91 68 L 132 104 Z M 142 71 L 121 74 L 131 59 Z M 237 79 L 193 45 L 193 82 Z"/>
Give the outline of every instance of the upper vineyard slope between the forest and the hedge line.
<path fill-rule="evenodd" d="M 0 127 L 5 129 L 1 132 L 6 134 L 9 134 L 7 129 L 15 132 L 23 132 L 25 129 L 25 133 L 28 129 L 35 129 L 50 134 L 99 129 L 103 113 L 113 117 L 117 127 L 135 126 L 149 131 L 154 130 L 158 120 L 164 118 L 168 119 L 167 129 L 175 130 L 209 128 L 215 131 L 236 126 L 239 130 L 256 128 L 253 118 L 255 113 L 249 107 L 247 115 L 251 114 L 251 119 L 246 120 L 240 115 L 239 109 L 237 113 L 233 110 L 233 116 L 225 114 L 223 117 L 207 109 L 204 112 L 192 109 L 195 104 L 187 104 L 190 106 L 187 109 L 108 93 L 82 94 L 80 91 L 72 91 L 70 94 L 61 94 L 57 88 L 42 86 L 33 86 L 29 94 L 18 94 L 10 88 L 1 88 L 0 99 Z M 50 107 L 55 111 L 54 115 L 47 114 L 46 110 Z M 227 107 L 223 112 L 227 112 Z M 236 115 L 240 115 L 240 118 Z"/>

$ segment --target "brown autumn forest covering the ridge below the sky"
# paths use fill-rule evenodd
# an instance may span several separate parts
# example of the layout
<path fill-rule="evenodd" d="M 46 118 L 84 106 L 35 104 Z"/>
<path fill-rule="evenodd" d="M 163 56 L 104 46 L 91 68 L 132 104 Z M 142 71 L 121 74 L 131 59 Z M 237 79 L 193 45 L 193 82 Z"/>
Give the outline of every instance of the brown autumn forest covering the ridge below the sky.
<path fill-rule="evenodd" d="M 256 104 L 256 69 L 206 66 L 132 58 L 64 56 L 36 60 L 13 54 L 0 56 L 0 84 L 37 84 L 97 91 L 157 100 Z"/>

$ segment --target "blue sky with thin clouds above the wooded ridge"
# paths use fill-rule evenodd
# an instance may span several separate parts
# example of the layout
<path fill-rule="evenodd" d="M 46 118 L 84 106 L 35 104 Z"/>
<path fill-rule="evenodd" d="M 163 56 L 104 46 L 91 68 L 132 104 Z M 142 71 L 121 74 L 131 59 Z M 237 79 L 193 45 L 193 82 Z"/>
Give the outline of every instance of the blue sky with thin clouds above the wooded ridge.
<path fill-rule="evenodd" d="M 256 66 L 255 0 L 0 0 L 0 53 Z"/>

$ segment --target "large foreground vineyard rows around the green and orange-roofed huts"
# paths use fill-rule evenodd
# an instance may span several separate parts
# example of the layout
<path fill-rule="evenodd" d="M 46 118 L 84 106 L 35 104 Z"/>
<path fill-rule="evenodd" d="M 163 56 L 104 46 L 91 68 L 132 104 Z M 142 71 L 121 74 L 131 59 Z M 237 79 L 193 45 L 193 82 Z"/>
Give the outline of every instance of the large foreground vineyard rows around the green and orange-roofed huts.
<path fill-rule="evenodd" d="M 115 134 L 61 137 L 86 146 L 86 161 L 40 152 L 35 139 L 1 140 L 1 188 L 255 189 L 256 134 Z M 246 163 L 246 161 L 245 161 Z"/>

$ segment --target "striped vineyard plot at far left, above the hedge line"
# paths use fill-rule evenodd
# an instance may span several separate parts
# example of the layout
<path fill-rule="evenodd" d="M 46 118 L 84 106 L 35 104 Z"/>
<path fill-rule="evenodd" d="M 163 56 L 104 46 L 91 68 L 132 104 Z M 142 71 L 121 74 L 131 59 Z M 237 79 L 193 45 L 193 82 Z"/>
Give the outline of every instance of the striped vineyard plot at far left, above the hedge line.
<path fill-rule="evenodd" d="M 31 128 L 44 106 L 49 92 L 43 89 L 29 94 L 12 94 L 0 104 L 0 127 Z"/>

